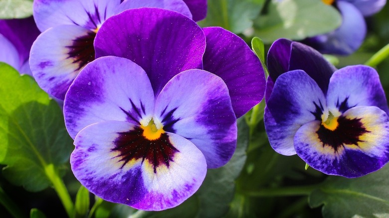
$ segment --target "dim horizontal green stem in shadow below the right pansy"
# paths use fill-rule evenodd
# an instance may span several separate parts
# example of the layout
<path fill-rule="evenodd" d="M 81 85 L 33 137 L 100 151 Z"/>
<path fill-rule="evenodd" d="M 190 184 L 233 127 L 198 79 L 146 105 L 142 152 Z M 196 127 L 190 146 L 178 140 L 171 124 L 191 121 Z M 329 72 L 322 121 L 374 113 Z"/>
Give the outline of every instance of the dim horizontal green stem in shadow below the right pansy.
<path fill-rule="evenodd" d="M 304 196 L 310 195 L 313 190 L 319 188 L 321 184 L 310 186 L 292 186 L 282 188 L 263 189 L 256 192 L 248 192 L 251 197 L 282 197 L 282 196 Z"/>

